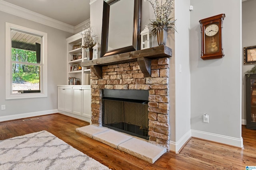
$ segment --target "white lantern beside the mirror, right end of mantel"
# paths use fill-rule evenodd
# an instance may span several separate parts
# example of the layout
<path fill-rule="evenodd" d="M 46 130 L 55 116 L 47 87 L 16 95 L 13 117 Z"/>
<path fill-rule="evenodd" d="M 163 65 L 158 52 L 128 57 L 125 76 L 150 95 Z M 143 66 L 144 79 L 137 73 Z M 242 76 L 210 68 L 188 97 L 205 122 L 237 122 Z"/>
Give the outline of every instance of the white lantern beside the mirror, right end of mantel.
<path fill-rule="evenodd" d="M 148 25 L 141 31 L 141 49 L 148 49 L 154 47 L 154 36 L 148 29 Z"/>

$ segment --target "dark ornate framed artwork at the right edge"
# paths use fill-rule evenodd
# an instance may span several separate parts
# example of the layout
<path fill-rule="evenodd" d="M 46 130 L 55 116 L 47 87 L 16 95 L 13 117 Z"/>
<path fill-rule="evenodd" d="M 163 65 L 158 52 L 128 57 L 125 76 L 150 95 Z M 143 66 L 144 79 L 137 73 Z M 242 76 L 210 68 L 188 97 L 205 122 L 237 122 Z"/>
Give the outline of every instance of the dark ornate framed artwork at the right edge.
<path fill-rule="evenodd" d="M 244 47 L 244 64 L 256 64 L 256 46 Z"/>

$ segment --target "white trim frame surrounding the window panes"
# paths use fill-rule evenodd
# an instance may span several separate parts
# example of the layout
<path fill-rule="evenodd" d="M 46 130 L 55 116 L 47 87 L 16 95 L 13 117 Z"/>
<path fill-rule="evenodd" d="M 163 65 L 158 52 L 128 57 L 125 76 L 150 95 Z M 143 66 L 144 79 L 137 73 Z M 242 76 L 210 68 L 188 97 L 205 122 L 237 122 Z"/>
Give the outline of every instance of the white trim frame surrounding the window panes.
<path fill-rule="evenodd" d="M 42 48 L 41 51 L 41 92 L 39 93 L 22 93 L 22 94 L 12 94 L 12 68 L 11 68 L 11 59 L 12 59 L 12 41 L 11 41 L 11 29 L 17 31 L 23 31 L 30 34 L 42 36 Z M 42 98 L 47 97 L 47 33 L 30 29 L 27 27 L 22 27 L 20 25 L 15 25 L 13 23 L 5 23 L 5 85 L 6 92 L 5 98 L 8 99 L 23 99 L 23 98 Z"/>

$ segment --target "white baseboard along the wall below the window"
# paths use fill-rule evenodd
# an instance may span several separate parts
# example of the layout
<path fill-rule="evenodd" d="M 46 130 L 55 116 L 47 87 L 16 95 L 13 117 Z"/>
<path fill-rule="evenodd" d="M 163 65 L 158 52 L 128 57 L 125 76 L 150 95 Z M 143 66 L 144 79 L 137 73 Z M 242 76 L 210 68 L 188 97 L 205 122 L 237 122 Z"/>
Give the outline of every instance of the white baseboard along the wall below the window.
<path fill-rule="evenodd" d="M 35 112 L 21 113 L 21 114 L 16 114 L 16 115 L 0 116 L 0 121 L 22 119 L 22 118 L 26 118 L 26 117 L 48 115 L 48 114 L 52 114 L 52 113 L 58 113 L 58 109 L 44 110 L 44 111 L 35 111 Z"/>

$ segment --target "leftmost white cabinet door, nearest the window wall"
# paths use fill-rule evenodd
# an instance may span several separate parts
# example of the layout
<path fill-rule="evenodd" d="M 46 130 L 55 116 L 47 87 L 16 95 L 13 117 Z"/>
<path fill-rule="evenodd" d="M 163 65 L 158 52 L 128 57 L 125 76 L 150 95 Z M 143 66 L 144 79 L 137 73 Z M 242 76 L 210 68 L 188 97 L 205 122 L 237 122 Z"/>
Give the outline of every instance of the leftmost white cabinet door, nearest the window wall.
<path fill-rule="evenodd" d="M 72 88 L 58 87 L 58 109 L 72 113 Z"/>

